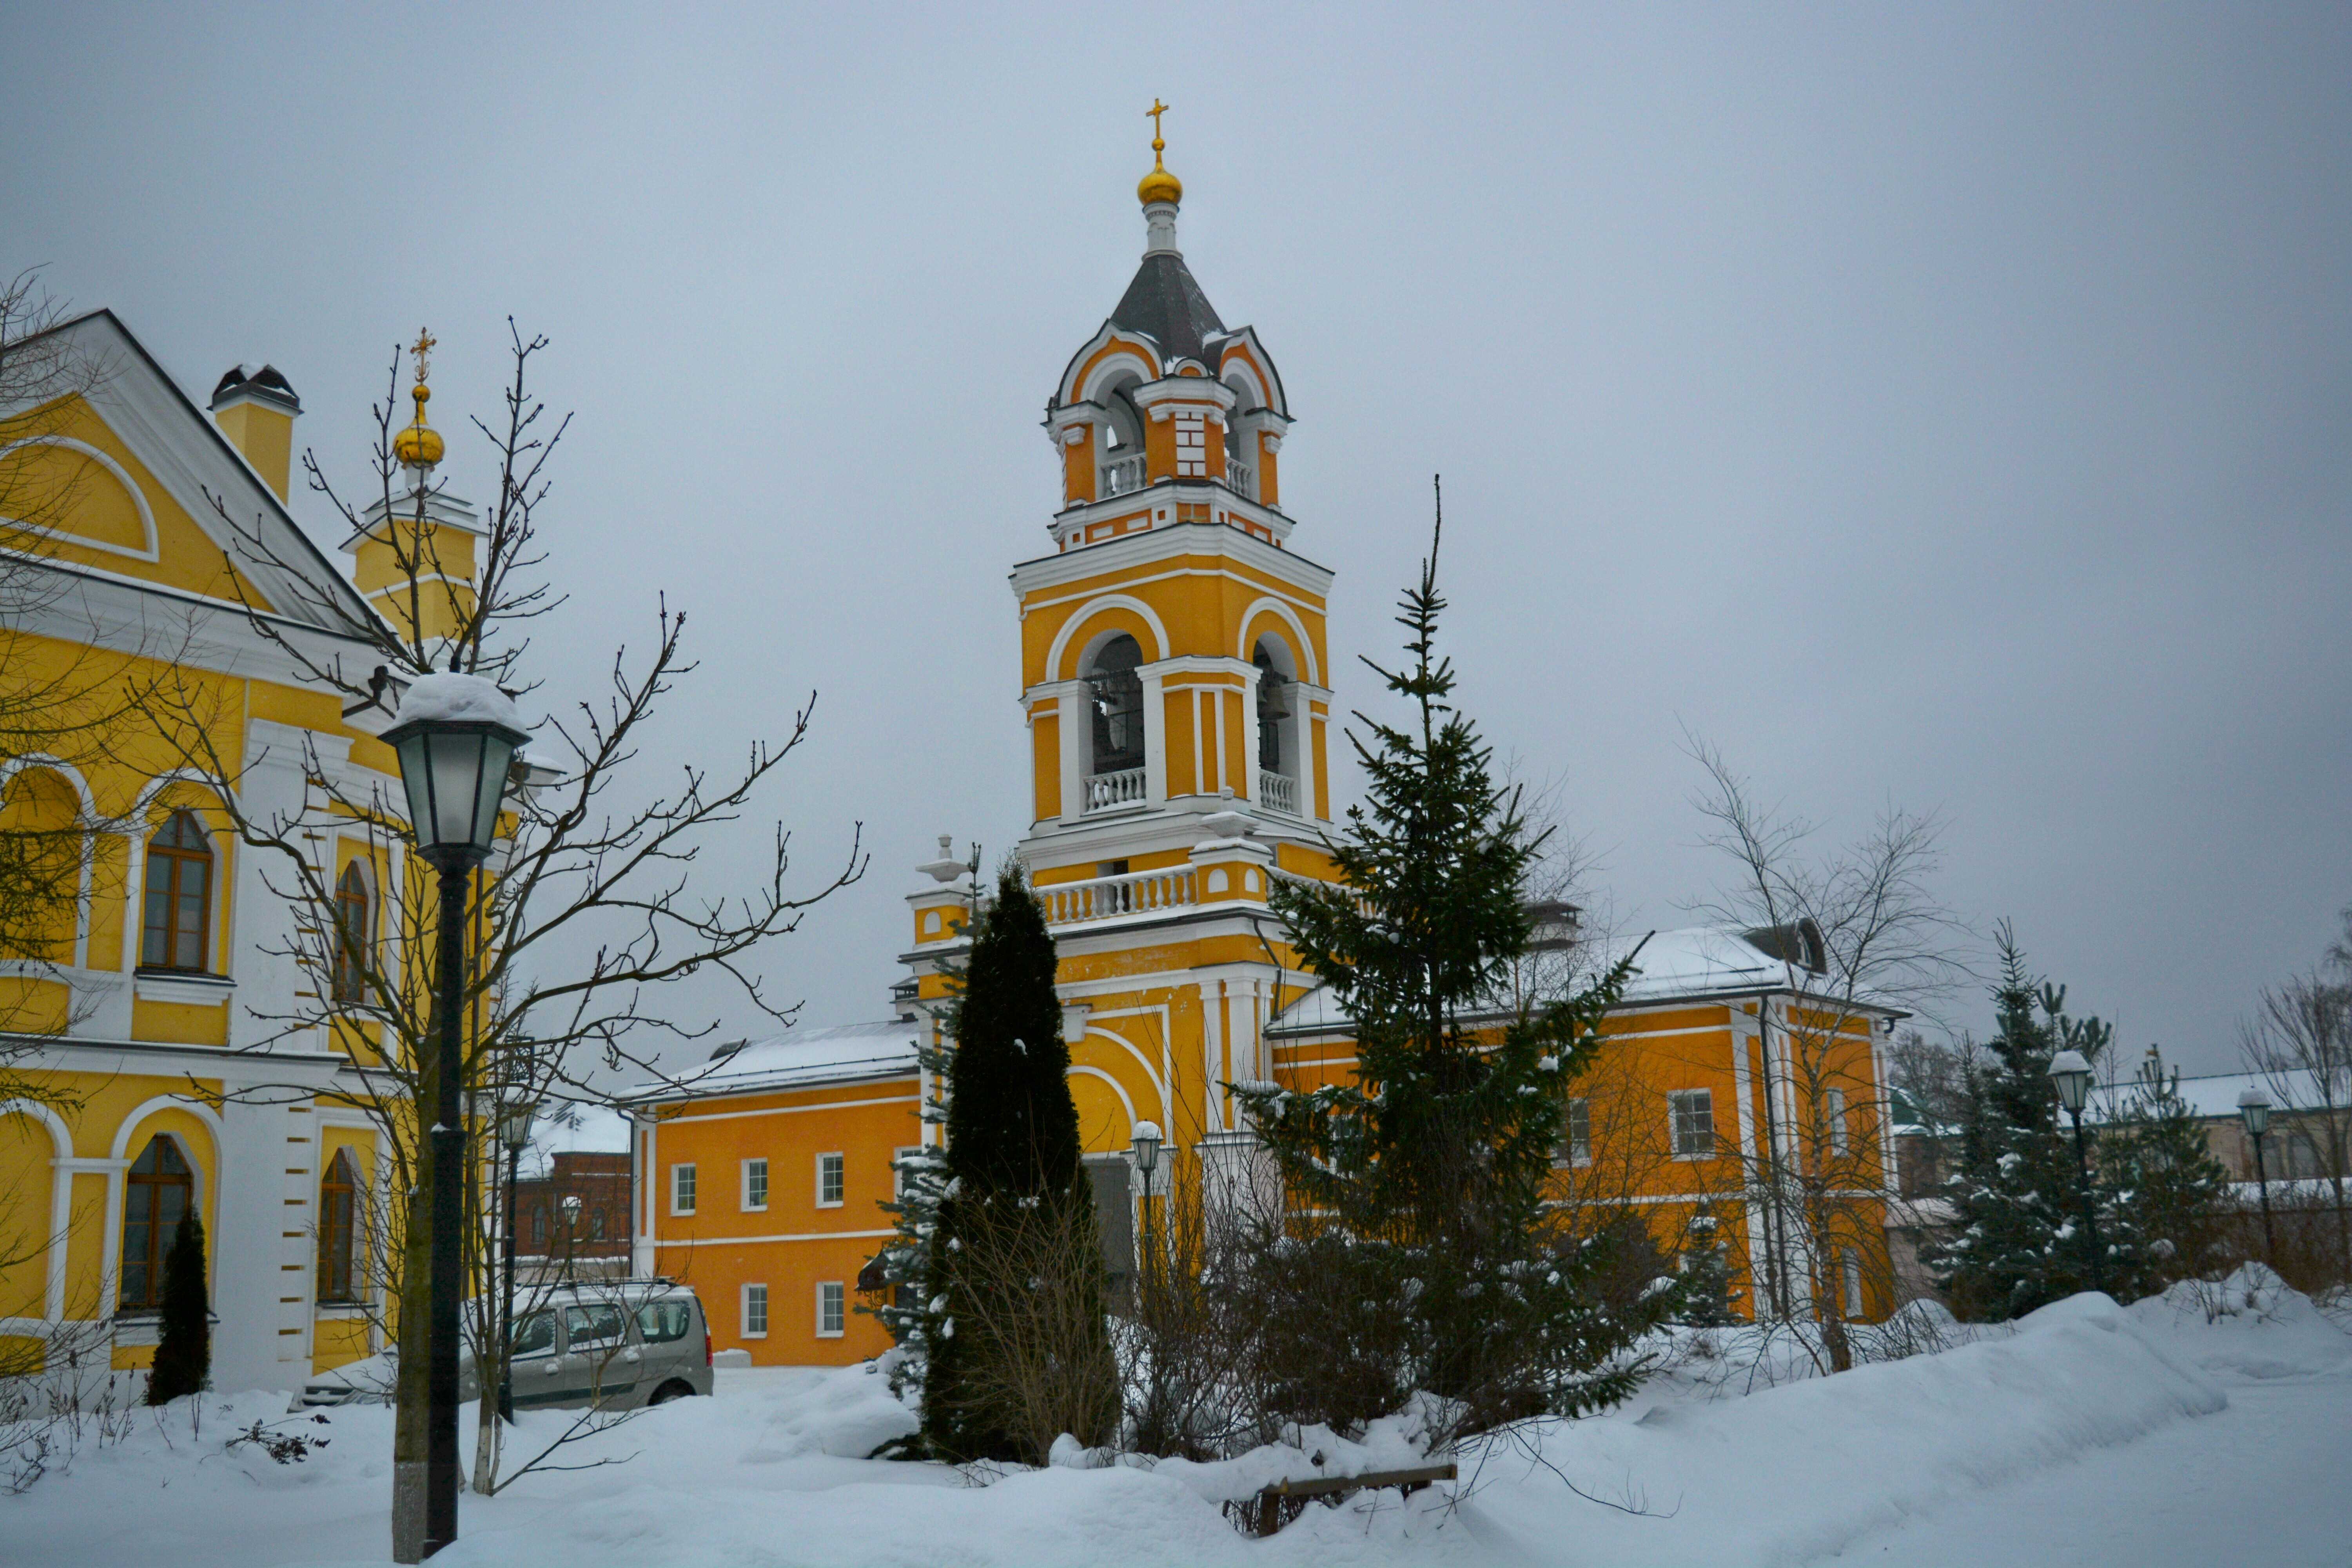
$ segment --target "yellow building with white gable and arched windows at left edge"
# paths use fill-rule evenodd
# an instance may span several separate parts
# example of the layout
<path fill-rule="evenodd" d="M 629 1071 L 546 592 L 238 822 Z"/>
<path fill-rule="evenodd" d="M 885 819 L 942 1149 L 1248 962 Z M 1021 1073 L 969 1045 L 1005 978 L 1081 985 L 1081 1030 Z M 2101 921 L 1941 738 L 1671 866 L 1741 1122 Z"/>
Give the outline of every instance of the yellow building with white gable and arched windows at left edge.
<path fill-rule="evenodd" d="M 381 943 L 402 867 L 360 823 L 327 820 L 320 792 L 332 780 L 400 802 L 376 741 L 393 703 L 346 712 L 296 661 L 374 665 L 336 630 L 336 614 L 369 616 L 362 590 L 287 510 L 294 388 L 240 367 L 207 414 L 106 310 L 56 327 L 47 348 L 94 374 L 54 404 L 5 409 L 31 433 L 16 440 L 16 496 L 59 505 L 12 534 L 24 548 L 9 571 L 38 590 L 0 628 L 0 658 L 14 677 L 99 672 L 101 698 L 169 675 L 247 818 L 308 818 L 358 940 Z M 238 548 L 223 510 L 259 548 Z M 466 534 L 463 515 L 447 522 Z M 348 548 L 365 567 L 367 538 Z M 289 954 L 296 912 L 186 755 L 134 719 L 99 752 L 0 759 L 19 820 L 108 825 L 49 952 L 0 976 L 33 1030 L 9 1041 L 16 1070 L 47 1100 L 0 1105 L 0 1255 L 19 1258 L 0 1269 L 0 1335 L 96 1342 L 113 1366 L 143 1366 L 160 1258 L 193 1204 L 214 1385 L 299 1387 L 374 1349 L 383 1316 L 355 1232 L 388 1171 L 348 1105 L 348 1041 L 325 1023 L 285 1025 L 318 1013 L 320 980 Z"/>

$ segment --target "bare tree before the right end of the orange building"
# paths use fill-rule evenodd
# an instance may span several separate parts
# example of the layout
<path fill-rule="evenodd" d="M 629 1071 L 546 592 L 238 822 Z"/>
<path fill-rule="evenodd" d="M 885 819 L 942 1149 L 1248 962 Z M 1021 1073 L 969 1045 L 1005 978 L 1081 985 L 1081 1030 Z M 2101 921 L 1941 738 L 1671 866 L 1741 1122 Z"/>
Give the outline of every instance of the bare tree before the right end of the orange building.
<path fill-rule="evenodd" d="M 1943 823 L 1889 806 L 1853 844 L 1816 846 L 1816 825 L 1759 804 L 1719 750 L 1696 738 L 1689 750 L 1705 771 L 1703 842 L 1733 865 L 1700 910 L 1776 957 L 1792 997 L 1759 1020 L 1757 1145 L 1724 1147 L 1764 1218 L 1757 1326 L 1844 1371 L 1849 1324 L 1896 1284 L 1886 1213 L 1900 1192 L 1877 1030 L 1889 1011 L 1931 1011 L 1966 976 L 1966 931 L 1933 891 Z"/>

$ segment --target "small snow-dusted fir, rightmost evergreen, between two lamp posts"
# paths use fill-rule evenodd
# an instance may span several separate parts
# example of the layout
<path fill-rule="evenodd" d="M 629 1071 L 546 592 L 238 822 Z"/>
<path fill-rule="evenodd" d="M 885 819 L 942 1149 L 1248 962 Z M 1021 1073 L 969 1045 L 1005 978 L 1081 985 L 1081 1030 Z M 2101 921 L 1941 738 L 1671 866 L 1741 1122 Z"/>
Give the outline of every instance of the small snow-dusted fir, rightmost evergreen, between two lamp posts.
<path fill-rule="evenodd" d="M 2197 1112 L 2180 1098 L 2180 1070 L 2166 1070 L 2154 1046 L 2147 1046 L 2122 1121 L 2100 1138 L 2098 1159 L 2138 1255 L 2124 1291 L 2152 1295 L 2218 1262 L 2230 1171 L 2213 1159 Z"/>

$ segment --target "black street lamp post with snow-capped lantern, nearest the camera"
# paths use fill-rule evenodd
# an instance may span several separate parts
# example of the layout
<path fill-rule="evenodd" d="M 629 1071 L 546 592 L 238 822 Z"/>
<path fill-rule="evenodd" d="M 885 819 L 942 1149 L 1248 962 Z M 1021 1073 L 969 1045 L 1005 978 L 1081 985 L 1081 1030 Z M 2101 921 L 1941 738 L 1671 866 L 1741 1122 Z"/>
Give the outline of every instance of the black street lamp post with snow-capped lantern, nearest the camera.
<path fill-rule="evenodd" d="M 433 976 L 433 1253 L 426 1272 L 426 1530 L 423 1554 L 456 1540 L 459 1300 L 466 1293 L 466 889 L 489 858 L 515 748 L 529 733 L 515 703 L 480 675 L 421 675 L 383 743 L 400 757 L 416 856 L 440 872 L 440 957 Z M 423 1110 L 423 1107 L 419 1107 Z"/>

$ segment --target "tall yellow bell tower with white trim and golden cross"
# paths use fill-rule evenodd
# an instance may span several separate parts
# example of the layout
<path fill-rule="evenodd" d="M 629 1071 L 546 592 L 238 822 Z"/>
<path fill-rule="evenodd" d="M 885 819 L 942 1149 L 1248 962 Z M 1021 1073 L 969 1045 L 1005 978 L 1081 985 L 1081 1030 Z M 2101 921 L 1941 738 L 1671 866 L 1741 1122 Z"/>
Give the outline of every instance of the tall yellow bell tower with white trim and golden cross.
<path fill-rule="evenodd" d="M 1225 327 L 1176 244 L 1183 183 L 1152 103 L 1136 188 L 1143 261 L 1047 400 L 1061 456 L 1051 552 L 1011 574 L 1030 830 L 1016 853 L 1061 954 L 1070 1088 L 1105 1234 L 1138 1124 L 1155 1192 L 1251 1175 L 1223 1084 L 1275 1074 L 1265 1025 L 1308 978 L 1279 940 L 1279 877 L 1329 879 L 1331 574 L 1291 550 L 1282 376 Z M 962 940 L 957 865 L 910 898 L 920 997 Z M 1108 1185 L 1105 1185 L 1108 1182 Z M 1207 1182 L 1192 1187 L 1192 1182 Z M 1117 1246 L 1112 1246 L 1117 1253 Z"/>

